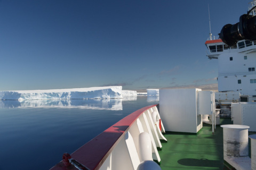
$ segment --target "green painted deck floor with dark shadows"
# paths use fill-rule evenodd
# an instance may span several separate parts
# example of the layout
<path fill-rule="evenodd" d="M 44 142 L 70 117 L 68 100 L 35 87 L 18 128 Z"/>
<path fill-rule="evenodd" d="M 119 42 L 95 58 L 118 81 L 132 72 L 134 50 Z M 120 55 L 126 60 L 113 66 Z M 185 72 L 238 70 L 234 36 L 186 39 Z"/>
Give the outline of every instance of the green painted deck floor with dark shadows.
<path fill-rule="evenodd" d="M 221 124 L 232 124 L 230 118 L 221 118 L 220 121 Z M 223 165 L 223 130 L 220 125 L 214 134 L 211 125 L 203 124 L 197 135 L 167 132 L 164 137 L 168 142 L 162 143 L 162 150 L 158 151 L 163 170 L 228 169 Z"/>

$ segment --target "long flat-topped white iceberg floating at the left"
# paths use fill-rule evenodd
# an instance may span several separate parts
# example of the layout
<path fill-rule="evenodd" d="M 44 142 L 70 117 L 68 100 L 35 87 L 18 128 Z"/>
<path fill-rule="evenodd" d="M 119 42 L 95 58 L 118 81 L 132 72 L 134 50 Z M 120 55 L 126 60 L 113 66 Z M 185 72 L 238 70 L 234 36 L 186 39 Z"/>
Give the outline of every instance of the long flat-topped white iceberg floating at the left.
<path fill-rule="evenodd" d="M 122 94 L 124 96 L 137 96 L 136 91 L 122 90 L 122 86 L 109 86 L 77 89 L 0 91 L 0 100 L 106 99 L 123 98 Z"/>

